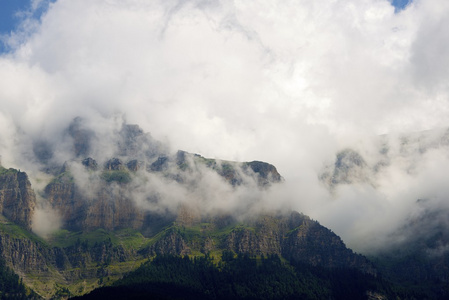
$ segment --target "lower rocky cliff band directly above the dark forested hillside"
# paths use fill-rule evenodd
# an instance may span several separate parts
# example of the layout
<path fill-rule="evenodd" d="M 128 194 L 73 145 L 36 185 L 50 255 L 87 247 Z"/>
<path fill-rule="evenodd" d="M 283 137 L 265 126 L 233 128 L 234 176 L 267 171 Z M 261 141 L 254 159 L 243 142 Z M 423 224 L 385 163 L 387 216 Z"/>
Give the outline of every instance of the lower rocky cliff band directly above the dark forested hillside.
<path fill-rule="evenodd" d="M 212 223 L 202 221 L 170 229 L 145 253 L 184 255 L 230 250 L 250 255 L 277 254 L 313 266 L 355 268 L 376 274 L 372 263 L 346 248 L 336 234 L 296 212 L 262 215 L 245 223 L 234 221 L 226 227 L 214 219 L 209 220 Z"/>

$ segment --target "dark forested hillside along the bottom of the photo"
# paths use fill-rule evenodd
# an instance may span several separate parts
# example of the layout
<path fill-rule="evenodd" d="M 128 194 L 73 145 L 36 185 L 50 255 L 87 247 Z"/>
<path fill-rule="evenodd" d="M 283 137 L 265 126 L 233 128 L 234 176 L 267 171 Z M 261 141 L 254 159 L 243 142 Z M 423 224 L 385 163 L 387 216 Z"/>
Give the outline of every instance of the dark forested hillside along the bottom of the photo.
<path fill-rule="evenodd" d="M 224 252 L 222 259 L 162 255 L 111 287 L 74 299 L 368 299 L 393 297 L 390 285 L 355 269 L 286 263 L 277 255 Z M 381 298 L 382 299 L 382 298 Z"/>

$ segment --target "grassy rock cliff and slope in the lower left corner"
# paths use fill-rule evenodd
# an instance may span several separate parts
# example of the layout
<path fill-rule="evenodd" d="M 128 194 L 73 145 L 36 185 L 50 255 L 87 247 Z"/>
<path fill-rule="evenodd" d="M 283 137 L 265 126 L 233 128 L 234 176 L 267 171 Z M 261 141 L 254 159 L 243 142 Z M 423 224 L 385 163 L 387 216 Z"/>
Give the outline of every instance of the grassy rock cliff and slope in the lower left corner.
<path fill-rule="evenodd" d="M 0 255 L 28 287 L 44 298 L 53 299 L 58 286 L 77 286 L 79 282 L 84 284 L 75 292 L 88 292 L 98 286 L 99 278 L 122 276 L 135 268 L 132 264 L 127 266 L 127 263 L 141 258 L 135 250 L 114 245 L 108 240 L 93 245 L 84 240 L 67 247 L 52 247 L 31 233 L 27 236 L 17 235 L 17 232 L 9 234 L 3 225 Z M 15 227 L 12 224 L 6 226 Z M 86 282 L 90 283 L 89 286 Z"/>

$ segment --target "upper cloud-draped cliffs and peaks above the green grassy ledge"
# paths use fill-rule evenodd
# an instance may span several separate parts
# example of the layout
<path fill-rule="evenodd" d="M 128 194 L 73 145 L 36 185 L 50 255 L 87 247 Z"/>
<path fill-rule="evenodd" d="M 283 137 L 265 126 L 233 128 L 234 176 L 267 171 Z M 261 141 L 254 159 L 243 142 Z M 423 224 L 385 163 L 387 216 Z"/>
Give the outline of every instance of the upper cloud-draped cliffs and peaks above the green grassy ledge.
<path fill-rule="evenodd" d="M 176 205 L 171 202 L 182 204 L 186 194 L 203 198 L 195 190 L 211 178 L 220 188 L 229 190 L 240 186 L 269 188 L 282 181 L 276 168 L 265 162 L 219 161 L 184 151 L 170 154 L 167 147 L 137 125 L 122 124 L 120 130 L 108 135 L 111 147 L 107 153 L 111 157 L 105 157 L 104 153 L 92 157 L 99 155 L 97 148 L 106 141 L 100 142 L 101 137 L 80 118 L 70 125 L 67 139 L 72 160 L 57 170 L 52 156 L 45 156 L 46 165 L 52 167 L 43 170 L 55 177 L 43 195 L 44 201 L 59 213 L 63 227 L 69 230 L 133 228 L 152 232 L 155 212 L 176 214 Z M 170 195 L 177 199 L 167 203 L 166 191 L 173 188 L 180 195 Z"/>

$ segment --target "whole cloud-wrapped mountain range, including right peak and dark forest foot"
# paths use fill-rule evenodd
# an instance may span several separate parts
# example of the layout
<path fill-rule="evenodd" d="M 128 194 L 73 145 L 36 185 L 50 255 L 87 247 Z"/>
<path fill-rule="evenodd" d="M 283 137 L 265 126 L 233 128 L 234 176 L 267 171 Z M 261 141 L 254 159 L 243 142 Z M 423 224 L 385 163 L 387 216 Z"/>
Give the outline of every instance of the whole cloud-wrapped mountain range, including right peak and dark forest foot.
<path fill-rule="evenodd" d="M 374 156 L 344 148 L 319 179 L 333 197 L 350 186 L 381 189 L 397 161 L 413 175 L 420 166 L 416 158 L 448 146 L 446 132 L 432 136 L 402 137 L 399 146 L 379 137 Z M 269 163 L 171 151 L 137 125 L 98 126 L 81 118 L 58 138 L 28 145 L 32 151 L 24 151 L 22 164 L 24 170 L 31 166 L 31 176 L 0 168 L 0 255 L 37 293 L 28 292 L 30 297 L 67 298 L 102 286 L 112 286 L 112 294 L 137 289 L 137 295 L 163 299 L 186 292 L 222 299 L 226 289 L 236 299 L 449 294 L 448 210 L 438 197 L 415 200 L 418 213 L 391 228 L 388 243 L 367 252 L 368 259 L 318 221 L 270 208 L 272 191 L 284 179 Z M 155 281 L 179 259 L 186 273 Z M 205 274 L 215 277 L 204 281 Z M 271 279 L 263 286 L 277 286 L 279 293 L 251 292 L 265 290 L 264 277 Z M 110 291 L 86 297 L 110 297 Z"/>

